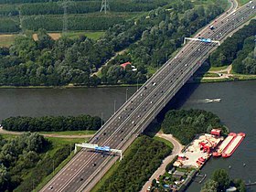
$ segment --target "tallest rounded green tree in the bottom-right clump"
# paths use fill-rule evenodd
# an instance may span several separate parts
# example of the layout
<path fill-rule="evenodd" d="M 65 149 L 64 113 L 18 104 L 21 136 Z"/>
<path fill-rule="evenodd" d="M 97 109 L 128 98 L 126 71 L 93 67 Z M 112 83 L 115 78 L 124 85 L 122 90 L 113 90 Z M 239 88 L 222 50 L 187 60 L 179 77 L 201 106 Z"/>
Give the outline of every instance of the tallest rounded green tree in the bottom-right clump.
<path fill-rule="evenodd" d="M 212 179 L 218 183 L 219 191 L 224 191 L 229 187 L 229 174 L 225 169 L 219 169 L 214 171 Z"/>

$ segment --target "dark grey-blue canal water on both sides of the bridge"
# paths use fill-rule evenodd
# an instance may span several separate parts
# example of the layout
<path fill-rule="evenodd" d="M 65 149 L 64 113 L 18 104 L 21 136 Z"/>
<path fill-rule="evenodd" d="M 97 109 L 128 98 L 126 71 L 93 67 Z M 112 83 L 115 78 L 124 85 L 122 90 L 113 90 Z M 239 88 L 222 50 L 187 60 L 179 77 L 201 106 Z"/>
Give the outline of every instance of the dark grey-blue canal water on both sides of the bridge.
<path fill-rule="evenodd" d="M 134 87 L 84 89 L 0 89 L 0 120 L 10 116 L 79 115 L 89 113 L 111 117 L 133 92 Z M 169 108 L 203 109 L 219 115 L 230 132 L 246 133 L 236 152 L 227 159 L 211 158 L 202 169 L 207 178 L 218 168 L 225 168 L 231 177 L 248 183 L 256 181 L 256 81 L 236 81 L 209 84 L 188 84 Z M 207 103 L 205 99 L 221 99 Z M 243 166 L 245 164 L 245 166 Z M 231 167 L 229 169 L 229 166 Z M 198 192 L 196 182 L 188 192 Z M 251 187 L 249 191 L 256 191 Z"/>

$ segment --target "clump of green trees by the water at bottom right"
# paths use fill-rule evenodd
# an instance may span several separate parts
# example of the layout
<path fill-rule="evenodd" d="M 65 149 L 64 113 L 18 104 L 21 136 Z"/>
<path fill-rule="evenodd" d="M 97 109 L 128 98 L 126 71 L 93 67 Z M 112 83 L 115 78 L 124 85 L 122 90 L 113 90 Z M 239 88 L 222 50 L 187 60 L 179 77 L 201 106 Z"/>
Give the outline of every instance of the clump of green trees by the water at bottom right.
<path fill-rule="evenodd" d="M 236 187 L 237 192 L 246 192 L 245 183 L 241 179 L 230 179 L 225 169 L 217 169 L 204 184 L 200 192 L 221 192 L 229 187 Z"/>

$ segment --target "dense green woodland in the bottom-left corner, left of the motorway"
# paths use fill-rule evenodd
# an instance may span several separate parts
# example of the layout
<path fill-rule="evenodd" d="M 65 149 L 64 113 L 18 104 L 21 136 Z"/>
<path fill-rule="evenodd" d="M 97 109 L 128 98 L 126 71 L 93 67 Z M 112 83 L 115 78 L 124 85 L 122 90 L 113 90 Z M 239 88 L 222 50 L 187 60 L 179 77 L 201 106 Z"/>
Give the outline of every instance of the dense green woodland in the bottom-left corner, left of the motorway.
<path fill-rule="evenodd" d="M 38 133 L 24 133 L 5 139 L 0 135 L 0 191 L 31 191 L 52 172 L 52 159 L 59 165 L 69 155 L 63 145 L 55 156 L 46 152 L 51 143 Z"/>

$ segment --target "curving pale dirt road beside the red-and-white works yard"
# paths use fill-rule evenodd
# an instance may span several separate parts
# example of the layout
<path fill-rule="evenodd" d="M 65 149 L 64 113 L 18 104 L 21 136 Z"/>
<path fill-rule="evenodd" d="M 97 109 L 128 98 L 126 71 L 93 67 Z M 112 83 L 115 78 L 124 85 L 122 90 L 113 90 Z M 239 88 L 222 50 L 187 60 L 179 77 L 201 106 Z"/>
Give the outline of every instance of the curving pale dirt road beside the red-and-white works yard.
<path fill-rule="evenodd" d="M 173 137 L 172 134 L 164 134 L 164 133 L 156 133 L 156 136 L 161 137 L 169 142 L 171 142 L 174 145 L 174 149 L 172 151 L 172 154 L 165 157 L 162 165 L 158 167 L 158 169 L 155 171 L 155 173 L 149 178 L 149 180 L 144 184 L 144 187 L 142 188 L 141 192 L 147 191 L 147 188 L 151 186 L 151 183 L 153 179 L 156 179 L 158 176 L 165 174 L 165 167 L 168 165 L 177 154 L 181 153 L 181 150 L 184 148 L 182 144 L 180 144 L 175 137 Z"/>

